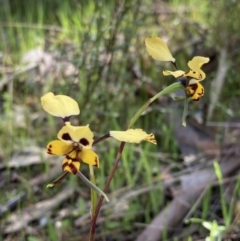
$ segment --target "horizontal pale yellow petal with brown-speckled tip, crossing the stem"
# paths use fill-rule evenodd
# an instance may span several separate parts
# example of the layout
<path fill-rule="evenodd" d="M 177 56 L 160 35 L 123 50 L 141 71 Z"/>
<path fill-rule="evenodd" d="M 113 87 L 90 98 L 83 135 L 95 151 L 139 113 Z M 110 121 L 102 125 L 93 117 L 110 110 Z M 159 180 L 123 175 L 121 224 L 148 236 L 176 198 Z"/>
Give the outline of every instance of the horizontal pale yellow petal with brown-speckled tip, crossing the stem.
<path fill-rule="evenodd" d="M 110 131 L 110 136 L 118 141 L 124 141 L 129 143 L 140 143 L 141 141 L 148 141 L 153 144 L 157 144 L 155 136 L 147 134 L 142 129 L 128 129 L 126 131 Z"/>

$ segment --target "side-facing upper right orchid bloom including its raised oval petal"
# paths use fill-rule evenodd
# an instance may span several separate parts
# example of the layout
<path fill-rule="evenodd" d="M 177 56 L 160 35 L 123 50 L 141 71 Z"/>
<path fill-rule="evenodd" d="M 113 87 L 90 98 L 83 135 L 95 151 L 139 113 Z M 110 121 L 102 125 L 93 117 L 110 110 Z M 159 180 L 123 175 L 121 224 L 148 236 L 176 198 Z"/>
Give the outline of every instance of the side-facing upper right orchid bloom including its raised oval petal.
<path fill-rule="evenodd" d="M 176 68 L 176 61 L 162 39 L 158 37 L 149 37 L 145 39 L 145 44 L 149 55 L 154 59 L 172 62 Z M 172 75 L 178 78 L 184 87 L 186 97 L 198 101 L 204 95 L 204 88 L 199 82 L 206 78 L 206 74 L 202 71 L 201 67 L 208 62 L 209 58 L 196 56 L 188 62 L 190 70 L 186 72 L 182 70 L 165 70 L 163 71 L 163 75 Z"/>

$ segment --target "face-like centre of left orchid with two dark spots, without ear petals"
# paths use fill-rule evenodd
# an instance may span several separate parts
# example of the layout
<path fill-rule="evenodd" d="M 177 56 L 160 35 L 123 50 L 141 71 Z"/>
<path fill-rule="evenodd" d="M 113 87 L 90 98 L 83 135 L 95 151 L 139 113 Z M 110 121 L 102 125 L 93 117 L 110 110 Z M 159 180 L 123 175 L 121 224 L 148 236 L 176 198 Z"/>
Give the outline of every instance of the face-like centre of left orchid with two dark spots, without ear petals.
<path fill-rule="evenodd" d="M 80 162 L 99 167 L 97 154 L 91 150 L 93 133 L 89 126 L 72 126 L 70 122 L 58 132 L 59 140 L 48 143 L 47 153 L 65 156 L 63 171 L 76 174 L 80 169 Z"/>

